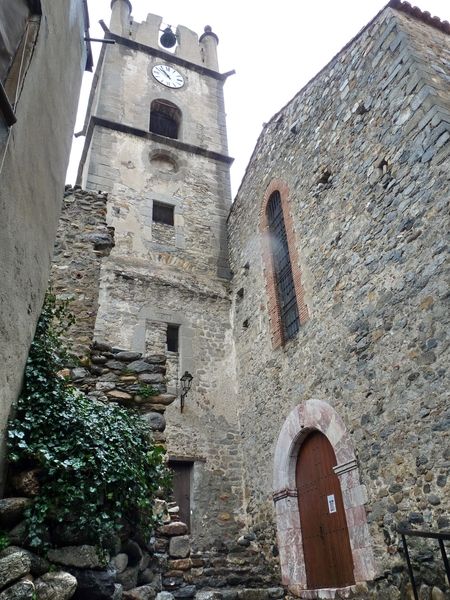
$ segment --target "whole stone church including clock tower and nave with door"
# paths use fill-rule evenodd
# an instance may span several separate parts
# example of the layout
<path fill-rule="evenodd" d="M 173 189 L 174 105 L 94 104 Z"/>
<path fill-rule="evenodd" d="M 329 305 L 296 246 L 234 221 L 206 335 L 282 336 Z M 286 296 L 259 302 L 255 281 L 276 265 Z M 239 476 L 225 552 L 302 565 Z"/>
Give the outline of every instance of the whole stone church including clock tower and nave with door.
<path fill-rule="evenodd" d="M 79 353 L 166 356 L 177 500 L 196 551 L 242 548 L 227 577 L 413 598 L 398 527 L 450 526 L 450 25 L 392 0 L 264 127 L 233 204 L 217 35 L 164 47 L 128 0 L 104 30 L 53 270 Z"/>

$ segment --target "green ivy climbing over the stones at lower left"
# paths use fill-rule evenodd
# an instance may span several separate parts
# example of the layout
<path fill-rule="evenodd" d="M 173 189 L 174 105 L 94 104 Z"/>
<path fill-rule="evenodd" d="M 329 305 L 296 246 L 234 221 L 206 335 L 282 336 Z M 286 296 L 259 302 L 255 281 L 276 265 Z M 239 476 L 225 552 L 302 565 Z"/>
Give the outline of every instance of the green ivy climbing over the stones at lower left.
<path fill-rule="evenodd" d="M 169 482 L 164 450 L 137 413 L 88 398 L 58 375 L 67 361 L 61 334 L 72 322 L 67 305 L 47 294 L 8 429 L 10 462 L 39 469 L 26 512 L 38 550 L 58 527 L 103 550 L 124 527 L 148 535 L 154 499 Z"/>

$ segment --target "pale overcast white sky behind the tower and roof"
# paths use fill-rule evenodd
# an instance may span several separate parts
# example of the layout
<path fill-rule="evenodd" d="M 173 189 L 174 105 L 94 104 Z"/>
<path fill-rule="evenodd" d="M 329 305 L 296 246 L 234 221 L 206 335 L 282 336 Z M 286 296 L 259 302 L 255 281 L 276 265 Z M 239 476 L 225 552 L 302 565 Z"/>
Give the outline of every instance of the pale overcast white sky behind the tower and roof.
<path fill-rule="evenodd" d="M 219 36 L 221 72 L 236 70 L 225 84 L 233 195 L 264 122 L 288 102 L 364 27 L 387 0 L 131 0 L 132 16 L 161 15 L 163 24 L 185 25 L 199 35 L 211 25 Z M 450 21 L 449 0 L 411 2 Z M 88 0 L 91 37 L 103 37 L 110 0 Z M 100 44 L 93 43 L 95 57 Z M 86 74 L 76 131 L 82 128 L 92 75 Z M 72 149 L 67 174 L 75 182 L 84 138 Z"/>

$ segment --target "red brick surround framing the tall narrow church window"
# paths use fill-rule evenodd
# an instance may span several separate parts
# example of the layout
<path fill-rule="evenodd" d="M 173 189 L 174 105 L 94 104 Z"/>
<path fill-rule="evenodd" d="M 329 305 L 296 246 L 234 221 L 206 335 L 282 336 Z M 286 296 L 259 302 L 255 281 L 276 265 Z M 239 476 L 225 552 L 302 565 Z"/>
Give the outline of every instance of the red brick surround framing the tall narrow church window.
<path fill-rule="evenodd" d="M 277 193 L 279 194 L 281 202 L 300 326 L 308 320 L 308 307 L 306 306 L 304 298 L 302 274 L 299 265 L 298 250 L 294 232 L 294 223 L 289 209 L 289 188 L 283 181 L 280 181 L 279 179 L 274 179 L 266 189 L 260 212 L 260 229 L 262 232 L 262 256 L 264 261 L 269 321 L 272 332 L 272 344 L 274 348 L 282 346 L 287 341 L 287 339 L 289 339 L 289 335 L 286 336 L 285 327 L 283 323 L 283 316 L 280 307 L 279 290 L 276 277 L 276 267 L 274 264 L 274 253 L 270 239 L 270 203 L 271 201 L 273 201 L 274 196 L 276 196 Z"/>

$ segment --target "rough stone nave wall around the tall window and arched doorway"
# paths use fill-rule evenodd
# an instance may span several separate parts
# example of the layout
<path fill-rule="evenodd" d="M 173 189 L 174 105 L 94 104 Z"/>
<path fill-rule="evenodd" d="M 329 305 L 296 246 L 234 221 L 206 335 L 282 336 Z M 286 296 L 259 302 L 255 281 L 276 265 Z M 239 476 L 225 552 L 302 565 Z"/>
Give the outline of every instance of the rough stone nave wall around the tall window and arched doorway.
<path fill-rule="evenodd" d="M 410 597 L 398 524 L 450 526 L 449 65 L 442 31 L 383 11 L 265 127 L 229 219 L 247 514 L 270 557 L 278 433 L 306 400 L 331 405 L 358 459 L 370 597 Z M 274 179 L 288 189 L 309 312 L 276 350 L 259 231 Z M 429 598 L 444 586 L 437 546 L 419 543 L 412 560 Z"/>

